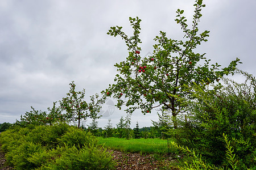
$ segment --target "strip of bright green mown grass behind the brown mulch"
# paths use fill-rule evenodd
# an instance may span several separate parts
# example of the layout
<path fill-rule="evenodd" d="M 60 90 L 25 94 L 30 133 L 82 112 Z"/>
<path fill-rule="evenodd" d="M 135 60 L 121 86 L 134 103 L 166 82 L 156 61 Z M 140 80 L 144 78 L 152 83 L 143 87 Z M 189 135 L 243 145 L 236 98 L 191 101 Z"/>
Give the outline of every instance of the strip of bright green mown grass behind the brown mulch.
<path fill-rule="evenodd" d="M 166 154 L 175 153 L 177 149 L 163 139 L 123 139 L 123 138 L 102 138 L 98 137 L 99 143 L 114 150 L 127 152 L 141 152 L 142 154 Z"/>

